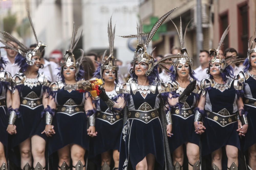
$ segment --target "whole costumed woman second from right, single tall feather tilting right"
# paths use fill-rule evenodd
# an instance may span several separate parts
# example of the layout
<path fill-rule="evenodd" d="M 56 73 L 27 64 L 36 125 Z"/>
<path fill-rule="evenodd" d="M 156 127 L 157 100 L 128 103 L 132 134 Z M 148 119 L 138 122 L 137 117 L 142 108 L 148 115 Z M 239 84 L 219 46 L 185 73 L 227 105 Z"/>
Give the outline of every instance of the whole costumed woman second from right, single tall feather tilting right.
<path fill-rule="evenodd" d="M 212 169 L 225 169 L 226 166 L 235 170 L 238 169 L 239 135 L 246 133 L 248 125 L 244 124 L 242 85 L 232 79 L 230 66 L 241 61 L 236 56 L 223 59 L 219 54 L 228 31 L 229 26 L 221 36 L 218 48 L 209 51 L 209 78 L 201 81 L 202 93 L 195 109 L 194 125 L 197 134 L 204 133 L 201 136 L 202 155 L 211 153 Z M 237 120 L 239 115 L 240 120 Z M 226 165 L 221 165 L 222 147 L 227 153 Z"/>

